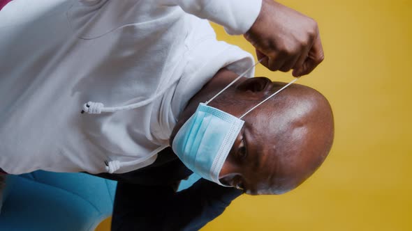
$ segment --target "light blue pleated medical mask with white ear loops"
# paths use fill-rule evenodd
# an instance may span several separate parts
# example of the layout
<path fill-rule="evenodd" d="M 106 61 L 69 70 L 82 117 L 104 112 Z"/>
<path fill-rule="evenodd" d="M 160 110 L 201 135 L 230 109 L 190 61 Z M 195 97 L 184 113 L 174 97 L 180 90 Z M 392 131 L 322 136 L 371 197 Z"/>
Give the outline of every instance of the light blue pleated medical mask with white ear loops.
<path fill-rule="evenodd" d="M 237 77 L 226 88 L 223 88 L 212 99 L 200 103 L 193 116 L 179 129 L 172 143 L 173 151 L 187 168 L 192 170 L 193 173 L 220 185 L 223 184 L 219 181 L 219 173 L 242 129 L 244 124 L 242 118 L 297 80 L 294 79 L 270 97 L 253 106 L 240 118 L 207 105 L 255 65 L 249 67 L 246 72 Z"/>

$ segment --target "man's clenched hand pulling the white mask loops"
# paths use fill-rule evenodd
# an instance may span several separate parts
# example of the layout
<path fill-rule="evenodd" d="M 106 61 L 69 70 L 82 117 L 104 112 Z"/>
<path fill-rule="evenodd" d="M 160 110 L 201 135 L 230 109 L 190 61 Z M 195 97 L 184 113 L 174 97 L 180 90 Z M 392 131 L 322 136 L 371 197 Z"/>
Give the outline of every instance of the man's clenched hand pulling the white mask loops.
<path fill-rule="evenodd" d="M 256 48 L 258 59 L 269 70 L 293 76 L 309 74 L 323 61 L 318 24 L 305 15 L 272 0 L 263 0 L 262 9 L 244 34 Z"/>

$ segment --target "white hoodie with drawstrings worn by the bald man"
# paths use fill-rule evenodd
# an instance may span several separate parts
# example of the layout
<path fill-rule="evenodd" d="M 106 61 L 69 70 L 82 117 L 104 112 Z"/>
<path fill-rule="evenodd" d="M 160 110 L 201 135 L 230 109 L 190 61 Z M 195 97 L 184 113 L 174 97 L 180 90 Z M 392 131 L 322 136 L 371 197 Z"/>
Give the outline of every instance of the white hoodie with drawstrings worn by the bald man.
<path fill-rule="evenodd" d="M 0 168 L 126 173 L 152 164 L 186 103 L 221 67 L 240 73 L 253 64 L 199 17 L 244 33 L 260 4 L 8 3 L 0 11 Z M 137 108 L 81 114 L 89 101 Z"/>

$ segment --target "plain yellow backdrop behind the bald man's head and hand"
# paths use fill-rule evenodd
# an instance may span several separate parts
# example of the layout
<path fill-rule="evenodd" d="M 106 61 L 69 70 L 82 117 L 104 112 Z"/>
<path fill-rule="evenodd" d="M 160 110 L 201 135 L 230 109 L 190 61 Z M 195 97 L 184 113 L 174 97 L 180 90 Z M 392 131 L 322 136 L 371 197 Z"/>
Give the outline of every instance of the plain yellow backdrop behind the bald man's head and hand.
<path fill-rule="evenodd" d="M 294 191 L 241 196 L 203 230 L 412 230 L 412 1 L 280 2 L 321 30 L 325 61 L 298 83 L 332 104 L 332 151 Z M 242 36 L 214 28 L 254 54 Z M 262 65 L 256 76 L 292 79 Z"/>

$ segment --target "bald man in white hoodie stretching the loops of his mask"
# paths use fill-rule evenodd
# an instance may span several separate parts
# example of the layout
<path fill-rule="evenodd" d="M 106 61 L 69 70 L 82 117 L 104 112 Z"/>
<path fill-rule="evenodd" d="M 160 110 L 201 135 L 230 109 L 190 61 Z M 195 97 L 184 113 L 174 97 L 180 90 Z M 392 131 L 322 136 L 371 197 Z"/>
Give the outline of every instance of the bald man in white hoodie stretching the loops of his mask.
<path fill-rule="evenodd" d="M 299 77 L 323 60 L 316 22 L 270 0 L 8 3 L 0 13 L 0 168 L 119 175 L 153 166 L 172 146 L 216 184 L 251 194 L 295 188 L 330 148 L 325 101 L 291 86 L 240 118 L 278 88 L 240 79 L 196 111 L 235 76 L 253 77 L 251 54 L 217 41 L 205 19 L 244 35 L 270 70 Z M 277 101 L 288 92 L 290 100 Z M 199 113 L 216 122 L 204 118 L 200 127 L 214 124 L 214 133 L 202 148 L 187 129 Z"/>

